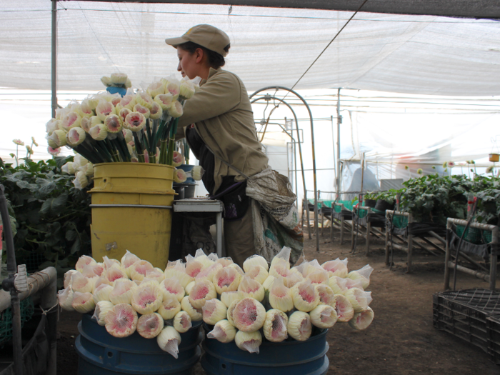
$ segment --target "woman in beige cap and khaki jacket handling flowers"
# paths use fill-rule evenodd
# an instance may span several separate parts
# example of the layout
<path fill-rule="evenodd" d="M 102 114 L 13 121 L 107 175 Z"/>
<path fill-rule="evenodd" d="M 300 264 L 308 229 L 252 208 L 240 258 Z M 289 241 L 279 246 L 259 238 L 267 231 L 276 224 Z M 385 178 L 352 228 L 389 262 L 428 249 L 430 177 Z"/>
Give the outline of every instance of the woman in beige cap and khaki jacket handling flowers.
<path fill-rule="evenodd" d="M 200 89 L 186 101 L 176 139 L 186 137 L 205 173 L 202 181 L 224 212 L 226 255 L 236 264 L 255 254 L 251 199 L 246 178 L 268 167 L 254 124 L 246 88 L 236 74 L 222 70 L 229 53 L 229 36 L 214 26 L 192 27 L 178 38 L 166 39 L 177 49 L 183 77 L 201 78 Z"/>

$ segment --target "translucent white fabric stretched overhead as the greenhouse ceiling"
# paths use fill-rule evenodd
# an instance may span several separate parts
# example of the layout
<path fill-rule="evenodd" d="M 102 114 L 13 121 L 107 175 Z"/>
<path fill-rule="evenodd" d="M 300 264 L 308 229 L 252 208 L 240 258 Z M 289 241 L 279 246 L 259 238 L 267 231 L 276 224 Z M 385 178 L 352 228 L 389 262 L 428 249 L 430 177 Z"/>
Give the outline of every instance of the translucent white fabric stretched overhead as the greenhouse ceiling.
<path fill-rule="evenodd" d="M 58 89 L 100 90 L 115 71 L 134 86 L 168 76 L 164 39 L 196 24 L 226 31 L 226 69 L 249 91 L 291 87 L 351 12 L 198 4 L 58 3 Z M 0 0 L 0 86 L 51 87 L 51 1 Z M 439 16 L 356 15 L 296 89 L 411 94 L 500 94 L 500 22 Z"/>

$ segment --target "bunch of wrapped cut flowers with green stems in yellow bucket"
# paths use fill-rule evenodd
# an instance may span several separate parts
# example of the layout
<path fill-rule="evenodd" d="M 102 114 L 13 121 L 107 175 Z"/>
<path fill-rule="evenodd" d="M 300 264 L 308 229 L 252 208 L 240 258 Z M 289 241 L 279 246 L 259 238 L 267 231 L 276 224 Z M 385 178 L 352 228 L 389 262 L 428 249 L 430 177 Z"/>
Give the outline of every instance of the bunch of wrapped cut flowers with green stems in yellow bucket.
<path fill-rule="evenodd" d="M 126 74 L 111 74 L 102 81 L 108 88 L 128 89 L 124 96 L 103 91 L 57 110 L 46 124 L 49 146 L 69 146 L 92 164 L 135 161 L 179 166 L 177 123 L 199 81 L 172 75 L 135 91 Z"/>

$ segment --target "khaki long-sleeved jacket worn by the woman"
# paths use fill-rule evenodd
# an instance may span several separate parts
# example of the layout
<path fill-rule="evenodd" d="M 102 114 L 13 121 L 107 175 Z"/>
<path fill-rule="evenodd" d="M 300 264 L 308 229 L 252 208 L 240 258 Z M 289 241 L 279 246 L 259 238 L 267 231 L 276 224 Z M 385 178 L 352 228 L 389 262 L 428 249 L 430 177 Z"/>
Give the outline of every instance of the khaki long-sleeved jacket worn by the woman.
<path fill-rule="evenodd" d="M 210 69 L 209 78 L 201 80 L 199 91 L 184 104 L 176 139 L 184 138 L 186 126 L 190 124 L 194 124 L 205 144 L 216 155 L 215 187 L 211 194 L 219 189 L 224 176 L 244 180 L 221 159 L 246 176 L 266 169 L 268 158 L 257 139 L 250 99 L 236 74 L 220 68 Z"/>

